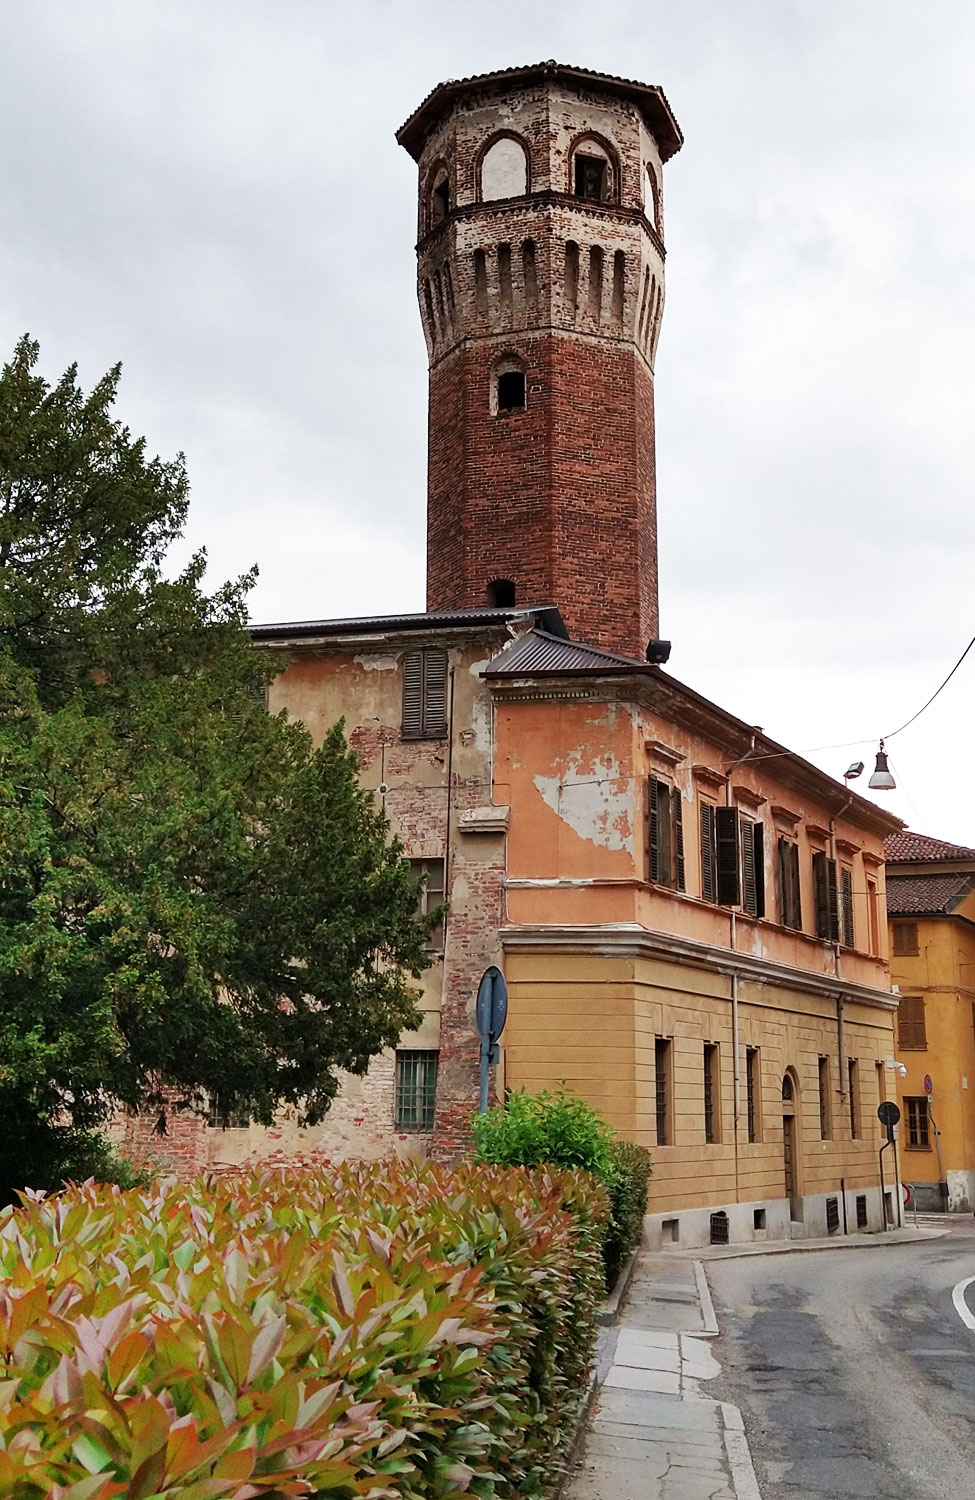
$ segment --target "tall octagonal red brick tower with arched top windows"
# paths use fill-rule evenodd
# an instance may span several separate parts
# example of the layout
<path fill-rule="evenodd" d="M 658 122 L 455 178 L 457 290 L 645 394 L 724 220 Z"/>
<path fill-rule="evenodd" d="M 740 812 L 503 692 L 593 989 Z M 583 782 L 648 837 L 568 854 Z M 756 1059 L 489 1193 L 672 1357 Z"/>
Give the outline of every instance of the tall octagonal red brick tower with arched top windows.
<path fill-rule="evenodd" d="M 554 603 L 642 656 L 670 106 L 537 63 L 440 84 L 398 141 L 420 168 L 428 609 Z"/>

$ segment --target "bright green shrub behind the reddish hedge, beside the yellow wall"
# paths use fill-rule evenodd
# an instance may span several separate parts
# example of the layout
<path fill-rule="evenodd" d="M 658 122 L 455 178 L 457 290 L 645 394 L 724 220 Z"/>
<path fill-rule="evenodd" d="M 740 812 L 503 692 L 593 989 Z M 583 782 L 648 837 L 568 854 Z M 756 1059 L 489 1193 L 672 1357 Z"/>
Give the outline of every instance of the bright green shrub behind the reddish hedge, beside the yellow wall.
<path fill-rule="evenodd" d="M 646 1212 L 650 1155 L 621 1140 L 603 1116 L 566 1084 L 555 1092 L 516 1089 L 504 1107 L 476 1114 L 474 1160 L 502 1166 L 550 1164 L 591 1172 L 610 1202 L 603 1239 L 606 1287 L 612 1288 L 627 1257 L 640 1242 Z"/>

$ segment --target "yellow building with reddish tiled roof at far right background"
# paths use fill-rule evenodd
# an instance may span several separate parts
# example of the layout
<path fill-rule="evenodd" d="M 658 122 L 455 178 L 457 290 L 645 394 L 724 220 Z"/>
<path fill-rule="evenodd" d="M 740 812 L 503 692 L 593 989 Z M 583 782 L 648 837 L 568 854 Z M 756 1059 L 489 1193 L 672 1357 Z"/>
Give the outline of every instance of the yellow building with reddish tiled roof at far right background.
<path fill-rule="evenodd" d="M 900 1173 L 921 1209 L 975 1208 L 975 849 L 892 834 L 891 980 L 900 988 Z"/>

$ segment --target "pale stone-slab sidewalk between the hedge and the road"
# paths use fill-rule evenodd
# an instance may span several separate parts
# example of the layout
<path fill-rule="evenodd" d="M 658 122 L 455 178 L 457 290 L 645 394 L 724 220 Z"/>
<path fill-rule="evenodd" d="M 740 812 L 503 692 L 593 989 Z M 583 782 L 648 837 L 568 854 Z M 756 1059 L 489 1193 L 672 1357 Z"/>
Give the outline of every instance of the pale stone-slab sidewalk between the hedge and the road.
<path fill-rule="evenodd" d="M 700 1262 L 640 1252 L 562 1500 L 760 1500 L 738 1407 L 702 1390 L 716 1334 Z"/>

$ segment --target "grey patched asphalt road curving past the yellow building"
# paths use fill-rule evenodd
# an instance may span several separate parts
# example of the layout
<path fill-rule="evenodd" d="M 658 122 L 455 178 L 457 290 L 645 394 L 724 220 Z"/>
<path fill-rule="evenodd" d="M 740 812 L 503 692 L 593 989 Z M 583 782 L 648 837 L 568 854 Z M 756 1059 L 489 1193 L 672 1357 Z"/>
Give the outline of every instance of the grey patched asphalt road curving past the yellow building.
<path fill-rule="evenodd" d="M 741 1407 L 764 1500 L 975 1500 L 975 1332 L 951 1298 L 975 1276 L 969 1216 L 944 1239 L 706 1274 L 723 1366 L 708 1396 Z"/>

